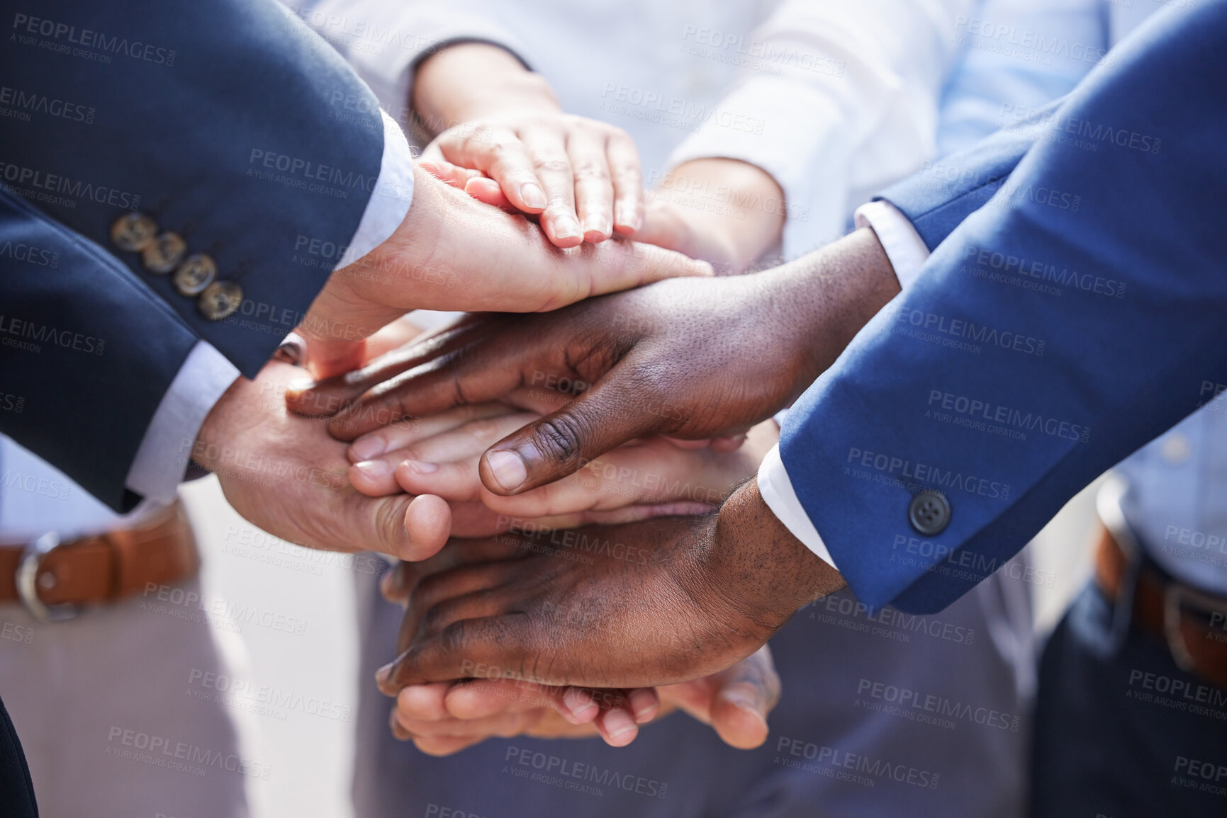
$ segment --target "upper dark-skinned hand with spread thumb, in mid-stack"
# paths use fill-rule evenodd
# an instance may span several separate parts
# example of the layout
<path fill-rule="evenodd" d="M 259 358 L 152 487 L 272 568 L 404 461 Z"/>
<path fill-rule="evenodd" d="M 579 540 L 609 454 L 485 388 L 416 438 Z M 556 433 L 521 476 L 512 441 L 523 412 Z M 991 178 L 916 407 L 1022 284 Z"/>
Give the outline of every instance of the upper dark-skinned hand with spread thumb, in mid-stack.
<path fill-rule="evenodd" d="M 363 369 L 292 388 L 287 400 L 308 415 L 344 406 L 329 428 L 352 440 L 406 417 L 567 384 L 573 400 L 482 456 L 482 483 L 510 495 L 632 439 L 745 432 L 804 391 L 897 292 L 863 228 L 757 273 L 663 281 L 551 314 L 469 315 Z"/>

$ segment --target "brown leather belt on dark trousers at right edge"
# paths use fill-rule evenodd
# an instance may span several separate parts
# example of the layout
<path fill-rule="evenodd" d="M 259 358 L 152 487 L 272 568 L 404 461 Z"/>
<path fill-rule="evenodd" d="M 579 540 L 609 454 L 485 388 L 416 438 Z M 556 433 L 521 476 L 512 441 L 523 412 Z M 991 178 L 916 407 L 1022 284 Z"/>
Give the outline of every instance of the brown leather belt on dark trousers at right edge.
<path fill-rule="evenodd" d="M 1129 562 L 1101 526 L 1094 575 L 1109 600 L 1120 596 Z M 1133 622 L 1166 641 L 1183 670 L 1227 687 L 1227 597 L 1206 594 L 1144 564 L 1134 590 Z"/>

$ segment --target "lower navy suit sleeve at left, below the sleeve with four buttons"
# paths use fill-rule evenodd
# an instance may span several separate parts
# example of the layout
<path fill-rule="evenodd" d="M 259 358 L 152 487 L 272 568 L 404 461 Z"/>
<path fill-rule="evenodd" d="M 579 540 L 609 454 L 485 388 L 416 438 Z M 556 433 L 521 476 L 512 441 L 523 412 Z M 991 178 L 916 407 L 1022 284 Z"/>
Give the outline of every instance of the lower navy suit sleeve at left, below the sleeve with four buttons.
<path fill-rule="evenodd" d="M 198 338 L 113 255 L 0 188 L 0 432 L 117 511 Z"/>

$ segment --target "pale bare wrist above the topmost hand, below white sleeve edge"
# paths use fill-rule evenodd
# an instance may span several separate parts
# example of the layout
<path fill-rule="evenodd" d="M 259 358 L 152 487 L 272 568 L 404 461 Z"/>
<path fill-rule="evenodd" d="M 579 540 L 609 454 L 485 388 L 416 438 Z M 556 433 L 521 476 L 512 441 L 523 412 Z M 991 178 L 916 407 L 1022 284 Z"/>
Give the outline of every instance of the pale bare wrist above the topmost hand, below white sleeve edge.
<path fill-rule="evenodd" d="M 561 110 L 540 74 L 488 43 L 458 43 L 426 58 L 413 76 L 409 104 L 432 139 L 479 117 Z"/>

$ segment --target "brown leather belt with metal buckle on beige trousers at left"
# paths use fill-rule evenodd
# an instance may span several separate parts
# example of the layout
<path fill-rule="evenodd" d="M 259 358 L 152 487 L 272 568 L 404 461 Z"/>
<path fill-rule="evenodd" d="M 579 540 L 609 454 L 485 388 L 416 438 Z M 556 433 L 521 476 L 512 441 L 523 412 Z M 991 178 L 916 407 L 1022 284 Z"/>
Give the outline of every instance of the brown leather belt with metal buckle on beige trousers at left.
<path fill-rule="evenodd" d="M 39 618 L 66 618 L 76 606 L 114 602 L 150 583 L 172 585 L 200 567 L 178 500 L 137 527 L 63 543 L 48 537 L 26 547 L 0 546 L 0 603 L 22 602 Z"/>

